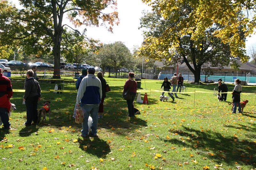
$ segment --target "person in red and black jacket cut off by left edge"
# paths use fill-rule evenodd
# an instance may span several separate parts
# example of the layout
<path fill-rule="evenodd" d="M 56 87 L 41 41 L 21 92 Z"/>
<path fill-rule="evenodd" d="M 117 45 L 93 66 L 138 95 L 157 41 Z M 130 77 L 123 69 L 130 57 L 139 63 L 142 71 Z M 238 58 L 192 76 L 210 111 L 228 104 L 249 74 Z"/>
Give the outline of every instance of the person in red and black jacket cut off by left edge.
<path fill-rule="evenodd" d="M 11 107 L 9 100 L 12 97 L 12 84 L 11 80 L 3 76 L 1 72 L 0 68 L 0 117 L 4 124 L 4 129 L 11 129 L 7 110 L 10 110 Z"/>

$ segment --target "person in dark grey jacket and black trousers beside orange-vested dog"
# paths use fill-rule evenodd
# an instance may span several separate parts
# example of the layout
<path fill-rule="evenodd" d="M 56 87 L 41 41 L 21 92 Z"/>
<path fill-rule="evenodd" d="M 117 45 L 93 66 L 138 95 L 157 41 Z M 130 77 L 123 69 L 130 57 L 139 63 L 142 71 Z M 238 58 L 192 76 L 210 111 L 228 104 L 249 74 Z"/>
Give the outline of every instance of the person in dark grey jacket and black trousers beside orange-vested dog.
<path fill-rule="evenodd" d="M 25 83 L 25 93 L 23 100 L 27 108 L 27 121 L 25 126 L 30 126 L 32 120 L 37 123 L 37 101 L 41 100 L 41 88 L 39 83 L 33 78 L 34 71 L 27 71 L 28 80 Z"/>

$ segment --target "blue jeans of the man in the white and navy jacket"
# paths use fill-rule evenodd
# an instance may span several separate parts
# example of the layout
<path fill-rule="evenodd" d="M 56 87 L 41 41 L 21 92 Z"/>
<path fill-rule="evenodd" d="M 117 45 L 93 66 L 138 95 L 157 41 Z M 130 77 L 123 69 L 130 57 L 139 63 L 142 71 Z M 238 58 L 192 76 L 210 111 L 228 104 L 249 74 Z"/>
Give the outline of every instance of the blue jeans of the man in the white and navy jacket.
<path fill-rule="evenodd" d="M 100 104 L 86 105 L 84 103 L 81 104 L 81 109 L 84 115 L 84 122 L 82 123 L 81 133 L 84 137 L 88 135 L 89 127 L 88 127 L 88 118 L 91 115 L 92 117 L 92 135 L 97 134 L 98 127 L 98 110 Z"/>

